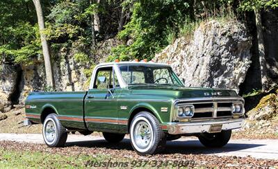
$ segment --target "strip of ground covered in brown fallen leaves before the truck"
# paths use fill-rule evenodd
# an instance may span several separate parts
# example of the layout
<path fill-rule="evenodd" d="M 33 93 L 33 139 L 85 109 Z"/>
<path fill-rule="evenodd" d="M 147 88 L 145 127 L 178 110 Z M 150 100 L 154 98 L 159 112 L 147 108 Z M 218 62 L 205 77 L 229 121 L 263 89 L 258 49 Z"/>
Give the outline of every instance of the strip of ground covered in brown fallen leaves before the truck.
<path fill-rule="evenodd" d="M 81 147 L 81 146 L 68 146 L 65 148 L 48 148 L 44 144 L 31 144 L 31 143 L 17 143 L 11 141 L 0 141 L 0 147 L 3 150 L 12 150 L 16 152 L 28 151 L 28 152 L 43 152 L 47 154 L 61 154 L 64 157 L 68 156 L 88 156 L 92 159 L 97 155 L 106 155 L 106 159 L 103 161 L 181 161 L 186 159 L 195 161 L 193 167 L 197 168 L 277 168 L 277 160 L 269 159 L 254 159 L 252 157 L 218 157 L 215 155 L 206 154 L 180 154 L 164 152 L 163 154 L 156 154 L 152 156 L 142 157 L 136 154 L 133 150 L 118 148 L 117 144 L 105 145 L 103 147 Z M 74 161 L 73 161 L 74 162 Z"/>

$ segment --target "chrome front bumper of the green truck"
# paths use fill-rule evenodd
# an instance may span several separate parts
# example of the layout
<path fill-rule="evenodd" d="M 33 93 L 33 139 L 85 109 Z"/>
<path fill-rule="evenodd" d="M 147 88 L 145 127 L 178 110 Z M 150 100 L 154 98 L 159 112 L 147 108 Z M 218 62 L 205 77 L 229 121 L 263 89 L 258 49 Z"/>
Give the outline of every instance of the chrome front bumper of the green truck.
<path fill-rule="evenodd" d="M 238 129 L 243 125 L 244 119 L 231 119 L 226 121 L 198 121 L 184 123 L 168 123 L 169 134 L 197 134 L 210 132 L 211 125 L 222 125 L 222 130 Z"/>

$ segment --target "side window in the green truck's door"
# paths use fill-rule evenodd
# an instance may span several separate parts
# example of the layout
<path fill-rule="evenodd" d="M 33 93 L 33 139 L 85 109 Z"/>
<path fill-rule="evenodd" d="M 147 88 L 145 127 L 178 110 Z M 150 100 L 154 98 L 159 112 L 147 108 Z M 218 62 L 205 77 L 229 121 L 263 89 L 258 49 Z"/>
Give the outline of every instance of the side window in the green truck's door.
<path fill-rule="evenodd" d="M 111 89 L 111 88 L 113 88 L 112 66 L 99 68 L 95 76 L 94 89 Z"/>

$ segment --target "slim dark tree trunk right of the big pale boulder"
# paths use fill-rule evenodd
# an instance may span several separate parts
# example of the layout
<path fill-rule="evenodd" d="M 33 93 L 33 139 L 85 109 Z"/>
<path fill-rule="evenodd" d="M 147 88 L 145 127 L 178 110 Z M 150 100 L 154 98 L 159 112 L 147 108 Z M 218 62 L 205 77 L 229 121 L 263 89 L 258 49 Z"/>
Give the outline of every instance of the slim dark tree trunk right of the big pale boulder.
<path fill-rule="evenodd" d="M 262 91 L 266 91 L 268 89 L 268 75 L 267 75 L 267 67 L 265 61 L 265 47 L 263 44 L 263 26 L 261 24 L 261 10 L 254 10 L 256 17 L 256 32 L 258 36 L 258 47 L 259 47 L 259 61 L 260 61 L 260 69 L 261 69 L 261 86 Z"/>

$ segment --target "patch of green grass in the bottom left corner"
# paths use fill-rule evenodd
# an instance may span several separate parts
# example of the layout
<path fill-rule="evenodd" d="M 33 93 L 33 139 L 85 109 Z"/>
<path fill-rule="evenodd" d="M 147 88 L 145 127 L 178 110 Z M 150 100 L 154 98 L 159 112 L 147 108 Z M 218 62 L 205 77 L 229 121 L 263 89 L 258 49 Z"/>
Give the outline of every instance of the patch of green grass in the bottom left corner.
<path fill-rule="evenodd" d="M 0 148 L 0 168 L 87 168 L 88 163 L 108 161 L 111 156 L 97 154 L 95 157 L 85 154 L 63 156 L 46 152 L 15 152 Z"/>

